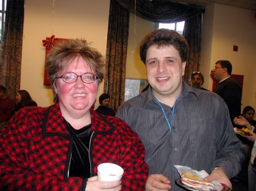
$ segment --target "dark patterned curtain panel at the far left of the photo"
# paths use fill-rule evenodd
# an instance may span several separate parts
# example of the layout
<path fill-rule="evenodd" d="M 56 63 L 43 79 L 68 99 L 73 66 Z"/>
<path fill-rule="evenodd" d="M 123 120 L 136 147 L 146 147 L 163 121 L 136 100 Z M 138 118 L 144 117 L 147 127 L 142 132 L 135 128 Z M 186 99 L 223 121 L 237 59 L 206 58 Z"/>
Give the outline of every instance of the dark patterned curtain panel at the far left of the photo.
<path fill-rule="evenodd" d="M 7 0 L 3 45 L 0 58 L 0 84 L 14 99 L 20 89 L 20 68 L 24 23 L 24 0 Z"/>

